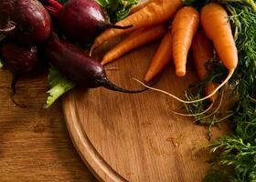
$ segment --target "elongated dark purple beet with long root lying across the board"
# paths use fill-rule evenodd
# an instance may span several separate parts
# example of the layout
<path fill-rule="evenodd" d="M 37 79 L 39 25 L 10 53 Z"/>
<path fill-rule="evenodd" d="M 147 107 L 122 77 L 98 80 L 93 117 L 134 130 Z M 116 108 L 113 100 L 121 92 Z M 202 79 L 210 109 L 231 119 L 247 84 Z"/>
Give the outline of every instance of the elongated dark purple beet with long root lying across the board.
<path fill-rule="evenodd" d="M 52 35 L 48 39 L 46 56 L 62 74 L 79 86 L 88 88 L 103 86 L 124 93 L 139 93 L 145 90 L 127 90 L 113 85 L 99 62 L 92 60 L 74 45 L 59 40 L 57 35 Z"/>

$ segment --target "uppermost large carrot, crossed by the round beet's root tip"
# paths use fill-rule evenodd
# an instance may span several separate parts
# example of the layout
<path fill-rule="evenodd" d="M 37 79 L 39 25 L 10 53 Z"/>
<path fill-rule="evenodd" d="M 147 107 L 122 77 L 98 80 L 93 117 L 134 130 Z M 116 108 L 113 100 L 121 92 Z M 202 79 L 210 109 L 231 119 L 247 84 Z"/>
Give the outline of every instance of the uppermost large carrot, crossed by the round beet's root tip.
<path fill-rule="evenodd" d="M 125 30 L 108 29 L 99 35 L 91 46 L 91 52 L 94 48 L 100 46 L 105 41 L 108 41 L 119 35 L 132 32 L 135 29 L 159 25 L 165 23 L 172 18 L 176 11 L 182 6 L 182 0 L 155 0 L 144 6 L 141 10 L 129 15 L 116 25 L 133 25 L 133 27 Z"/>

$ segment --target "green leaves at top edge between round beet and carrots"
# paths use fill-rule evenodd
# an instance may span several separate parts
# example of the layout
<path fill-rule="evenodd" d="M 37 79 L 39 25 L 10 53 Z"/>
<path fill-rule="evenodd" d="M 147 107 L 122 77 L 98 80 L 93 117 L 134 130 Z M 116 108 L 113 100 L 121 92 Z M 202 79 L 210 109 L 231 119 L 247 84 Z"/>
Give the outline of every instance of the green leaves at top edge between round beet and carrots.
<path fill-rule="evenodd" d="M 97 0 L 97 2 L 106 10 L 114 23 L 129 15 L 133 5 L 139 0 Z"/>

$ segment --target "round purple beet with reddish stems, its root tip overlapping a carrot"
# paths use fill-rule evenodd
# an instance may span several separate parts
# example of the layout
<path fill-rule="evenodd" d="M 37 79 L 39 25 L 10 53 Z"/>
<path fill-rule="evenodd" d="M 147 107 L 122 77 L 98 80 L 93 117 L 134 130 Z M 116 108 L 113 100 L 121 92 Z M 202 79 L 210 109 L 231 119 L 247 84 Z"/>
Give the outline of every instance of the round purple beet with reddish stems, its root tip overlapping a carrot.
<path fill-rule="evenodd" d="M 69 0 L 60 5 L 55 0 L 44 0 L 51 15 L 59 19 L 59 27 L 71 40 L 88 44 L 107 28 L 126 29 L 131 27 L 112 25 L 95 0 Z"/>

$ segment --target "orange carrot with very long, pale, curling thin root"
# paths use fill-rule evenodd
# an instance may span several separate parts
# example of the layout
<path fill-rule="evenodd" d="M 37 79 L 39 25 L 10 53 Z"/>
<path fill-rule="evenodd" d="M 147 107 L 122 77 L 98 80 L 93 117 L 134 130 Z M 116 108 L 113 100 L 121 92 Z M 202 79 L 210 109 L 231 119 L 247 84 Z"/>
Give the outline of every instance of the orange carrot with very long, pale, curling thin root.
<path fill-rule="evenodd" d="M 222 60 L 224 66 L 229 69 L 228 76 L 217 88 L 215 88 L 213 92 L 211 92 L 211 94 L 197 100 L 185 101 L 177 96 L 165 92 L 164 90 L 146 86 L 141 81 L 135 80 L 147 88 L 161 92 L 167 96 L 172 96 L 176 100 L 187 104 L 200 102 L 214 96 L 222 86 L 227 84 L 230 77 L 233 75 L 235 68 L 238 65 L 238 50 L 236 48 L 229 25 L 228 14 L 221 5 L 217 3 L 209 3 L 208 5 L 205 5 L 201 10 L 201 25 L 203 26 L 208 38 L 213 42 L 219 58 Z M 173 41 L 175 40 L 173 39 Z"/>

